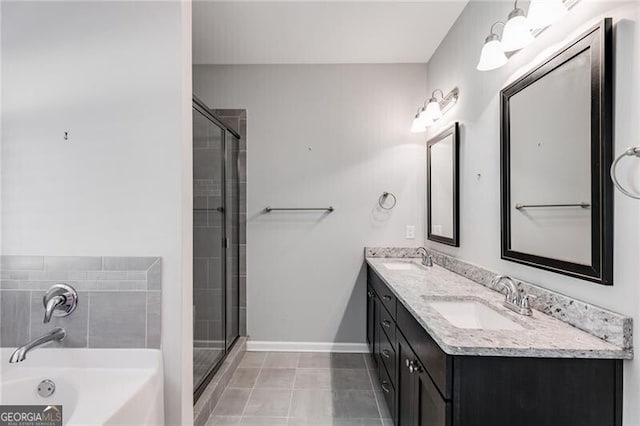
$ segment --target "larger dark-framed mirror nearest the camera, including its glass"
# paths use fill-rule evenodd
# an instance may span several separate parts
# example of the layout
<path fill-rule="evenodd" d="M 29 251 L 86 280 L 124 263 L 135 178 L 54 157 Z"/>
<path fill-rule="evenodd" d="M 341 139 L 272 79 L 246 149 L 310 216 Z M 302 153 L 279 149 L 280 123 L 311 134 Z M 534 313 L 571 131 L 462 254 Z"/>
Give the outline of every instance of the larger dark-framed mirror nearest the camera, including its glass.
<path fill-rule="evenodd" d="M 607 18 L 501 91 L 502 258 L 613 284 Z"/>

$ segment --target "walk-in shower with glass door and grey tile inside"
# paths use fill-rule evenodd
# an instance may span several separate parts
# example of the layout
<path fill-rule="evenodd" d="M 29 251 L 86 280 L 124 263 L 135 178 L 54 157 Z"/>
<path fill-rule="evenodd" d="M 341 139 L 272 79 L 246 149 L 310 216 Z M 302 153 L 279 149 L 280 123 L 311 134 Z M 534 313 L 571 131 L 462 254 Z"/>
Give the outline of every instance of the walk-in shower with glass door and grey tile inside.
<path fill-rule="evenodd" d="M 239 141 L 194 97 L 194 400 L 239 336 Z"/>

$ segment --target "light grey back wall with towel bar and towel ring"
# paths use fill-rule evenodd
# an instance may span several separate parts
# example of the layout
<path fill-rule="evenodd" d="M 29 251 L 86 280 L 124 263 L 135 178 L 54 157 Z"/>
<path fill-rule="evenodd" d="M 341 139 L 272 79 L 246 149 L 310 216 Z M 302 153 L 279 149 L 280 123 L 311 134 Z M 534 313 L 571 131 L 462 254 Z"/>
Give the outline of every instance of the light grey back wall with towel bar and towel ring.
<path fill-rule="evenodd" d="M 365 341 L 365 245 L 420 245 L 425 147 L 409 132 L 425 66 L 195 66 L 194 93 L 247 110 L 248 334 Z M 388 214 L 383 191 L 398 197 Z M 334 213 L 271 213 L 266 206 Z"/>

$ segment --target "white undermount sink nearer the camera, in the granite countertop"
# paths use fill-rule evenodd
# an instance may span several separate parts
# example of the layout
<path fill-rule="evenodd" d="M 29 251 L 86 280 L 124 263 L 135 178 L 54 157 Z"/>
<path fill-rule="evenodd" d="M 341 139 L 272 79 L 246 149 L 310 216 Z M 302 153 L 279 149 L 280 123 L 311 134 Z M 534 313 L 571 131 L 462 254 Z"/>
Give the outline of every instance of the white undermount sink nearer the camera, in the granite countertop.
<path fill-rule="evenodd" d="M 475 300 L 433 301 L 431 307 L 458 328 L 522 330 L 523 327 Z"/>

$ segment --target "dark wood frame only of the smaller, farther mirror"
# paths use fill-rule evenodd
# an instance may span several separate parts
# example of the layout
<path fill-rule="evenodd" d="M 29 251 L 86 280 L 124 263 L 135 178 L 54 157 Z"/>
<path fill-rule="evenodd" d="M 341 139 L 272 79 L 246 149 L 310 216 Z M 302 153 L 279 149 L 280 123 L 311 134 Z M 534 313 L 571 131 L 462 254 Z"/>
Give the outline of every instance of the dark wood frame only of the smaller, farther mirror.
<path fill-rule="evenodd" d="M 458 131 L 458 127 L 458 123 L 455 122 L 427 141 L 427 239 L 454 247 L 460 246 L 460 179 L 458 176 L 460 166 L 460 133 Z M 453 136 L 453 164 L 451 165 L 453 172 L 453 236 L 451 238 L 436 235 L 431 232 L 431 147 L 448 136 Z"/>

